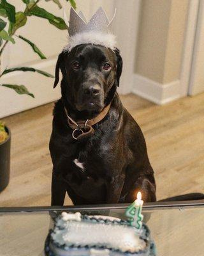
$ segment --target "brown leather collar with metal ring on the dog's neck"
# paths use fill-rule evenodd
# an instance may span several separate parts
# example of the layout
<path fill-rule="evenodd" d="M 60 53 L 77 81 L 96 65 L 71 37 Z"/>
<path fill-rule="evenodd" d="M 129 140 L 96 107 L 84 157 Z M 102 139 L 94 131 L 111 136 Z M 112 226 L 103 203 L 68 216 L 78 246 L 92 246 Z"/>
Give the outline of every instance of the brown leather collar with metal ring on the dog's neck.
<path fill-rule="evenodd" d="M 108 104 L 108 106 L 106 106 L 99 113 L 98 116 L 96 116 L 90 120 L 87 119 L 87 120 L 78 120 L 78 121 L 73 120 L 68 115 L 67 109 L 64 107 L 64 111 L 66 113 L 66 116 L 68 117 L 69 127 L 71 127 L 71 129 L 73 129 L 72 137 L 75 140 L 81 140 L 81 139 L 88 138 L 88 137 L 92 136 L 94 134 L 94 128 L 92 127 L 92 125 L 97 124 L 98 122 L 103 120 L 103 118 L 105 118 L 105 116 L 107 115 L 107 113 L 110 109 L 110 105 L 111 105 L 111 103 Z"/>

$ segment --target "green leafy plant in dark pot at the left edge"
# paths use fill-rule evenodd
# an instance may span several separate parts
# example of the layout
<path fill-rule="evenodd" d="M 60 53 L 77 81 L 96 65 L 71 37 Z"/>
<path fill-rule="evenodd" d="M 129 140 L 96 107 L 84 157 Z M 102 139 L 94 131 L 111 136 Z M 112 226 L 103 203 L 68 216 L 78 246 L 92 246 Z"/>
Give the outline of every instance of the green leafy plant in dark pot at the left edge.
<path fill-rule="evenodd" d="M 53 1 L 59 8 L 62 8 L 60 0 L 22 0 L 24 3 L 24 9 L 20 12 L 16 12 L 16 8 L 13 4 L 9 3 L 9 0 L 0 0 L 0 90 L 1 86 L 11 88 L 19 94 L 27 94 L 31 97 L 34 97 L 33 93 L 29 92 L 24 84 L 3 84 L 1 83 L 1 77 L 5 76 L 10 72 L 36 72 L 46 77 L 54 77 L 52 74 L 49 74 L 43 70 L 39 70 L 33 67 L 14 67 L 6 68 L 1 70 L 1 56 L 3 51 L 8 44 L 11 42 L 15 44 L 15 38 L 18 37 L 20 40 L 23 40 L 25 44 L 29 44 L 31 49 L 33 49 L 36 54 L 41 59 L 46 59 L 45 54 L 40 51 L 40 49 L 31 42 L 28 38 L 25 38 L 24 35 L 18 35 L 18 29 L 29 21 L 29 17 L 36 16 L 41 19 L 47 19 L 52 26 L 55 26 L 57 29 L 66 29 L 66 24 L 61 17 L 56 17 L 54 14 L 48 12 L 47 10 L 38 6 L 40 1 Z M 75 1 L 69 1 L 73 8 L 76 8 Z M 0 121 L 0 191 L 2 191 L 9 182 L 10 176 L 10 142 L 11 141 L 11 132 L 6 127 L 3 122 Z"/>

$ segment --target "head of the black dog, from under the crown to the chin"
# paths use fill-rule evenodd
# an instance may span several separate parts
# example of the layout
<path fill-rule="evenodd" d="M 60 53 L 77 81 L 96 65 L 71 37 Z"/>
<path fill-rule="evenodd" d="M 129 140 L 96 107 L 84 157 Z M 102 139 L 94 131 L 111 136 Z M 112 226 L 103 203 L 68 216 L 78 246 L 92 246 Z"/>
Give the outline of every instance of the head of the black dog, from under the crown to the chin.
<path fill-rule="evenodd" d="M 78 111 L 100 112 L 115 94 L 122 72 L 119 50 L 100 45 L 77 45 L 59 54 L 54 88 L 62 72 L 62 99 Z M 109 103 L 109 102 L 108 102 Z"/>

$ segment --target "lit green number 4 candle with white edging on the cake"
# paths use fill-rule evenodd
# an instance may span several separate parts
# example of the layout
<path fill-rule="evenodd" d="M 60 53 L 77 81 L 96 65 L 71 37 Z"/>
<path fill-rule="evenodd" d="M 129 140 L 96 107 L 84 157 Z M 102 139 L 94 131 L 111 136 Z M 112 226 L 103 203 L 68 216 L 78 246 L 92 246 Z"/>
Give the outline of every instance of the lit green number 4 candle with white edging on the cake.
<path fill-rule="evenodd" d="M 142 194 L 141 192 L 138 192 L 136 195 L 136 200 L 133 202 L 133 204 L 129 205 L 128 209 L 126 210 L 126 216 L 128 217 L 128 221 L 131 223 L 132 226 L 135 226 L 140 230 L 142 228 Z"/>

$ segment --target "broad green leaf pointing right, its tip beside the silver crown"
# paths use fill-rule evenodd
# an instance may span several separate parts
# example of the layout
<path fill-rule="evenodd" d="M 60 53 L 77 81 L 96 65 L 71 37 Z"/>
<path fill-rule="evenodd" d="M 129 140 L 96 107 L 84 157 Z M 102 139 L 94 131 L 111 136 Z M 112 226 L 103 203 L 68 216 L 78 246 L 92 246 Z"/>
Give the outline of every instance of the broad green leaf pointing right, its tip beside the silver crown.
<path fill-rule="evenodd" d="M 49 13 L 45 9 L 38 6 L 34 6 L 34 8 L 29 11 L 29 15 L 34 15 L 43 19 L 47 19 L 50 24 L 54 25 L 55 27 L 59 29 L 66 29 L 66 24 L 61 17 L 56 17 L 52 13 Z"/>

